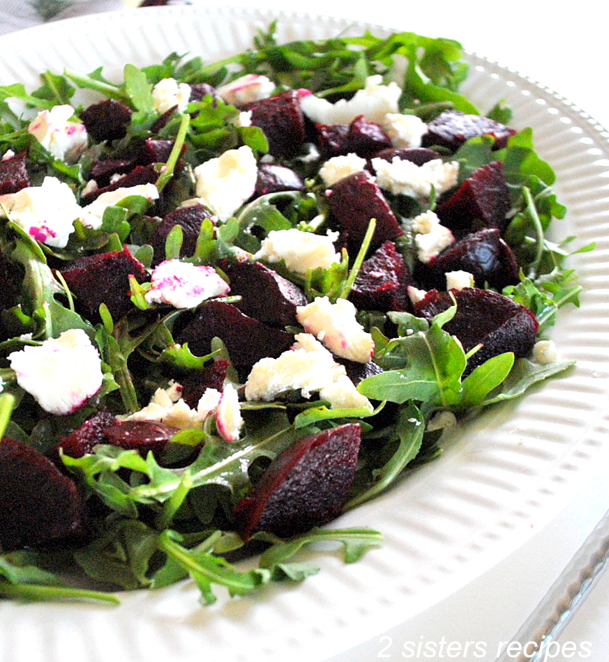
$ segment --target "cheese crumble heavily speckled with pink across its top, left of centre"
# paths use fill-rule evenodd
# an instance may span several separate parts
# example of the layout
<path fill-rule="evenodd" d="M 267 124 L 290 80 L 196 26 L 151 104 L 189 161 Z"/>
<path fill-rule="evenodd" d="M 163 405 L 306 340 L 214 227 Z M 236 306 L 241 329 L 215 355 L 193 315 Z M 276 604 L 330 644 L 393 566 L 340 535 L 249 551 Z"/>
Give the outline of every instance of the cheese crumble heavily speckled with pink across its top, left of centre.
<path fill-rule="evenodd" d="M 149 303 L 194 308 L 206 299 L 225 296 L 229 291 L 229 285 L 213 267 L 173 259 L 154 268 L 151 288 L 144 298 Z"/>

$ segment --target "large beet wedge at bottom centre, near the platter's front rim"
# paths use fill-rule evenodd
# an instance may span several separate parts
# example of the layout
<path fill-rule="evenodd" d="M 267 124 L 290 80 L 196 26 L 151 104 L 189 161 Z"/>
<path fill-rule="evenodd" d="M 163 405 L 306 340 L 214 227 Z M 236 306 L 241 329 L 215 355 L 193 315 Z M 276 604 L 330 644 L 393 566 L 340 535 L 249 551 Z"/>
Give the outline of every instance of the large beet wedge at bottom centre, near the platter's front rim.
<path fill-rule="evenodd" d="M 289 538 L 338 517 L 360 442 L 359 424 L 349 423 L 305 437 L 280 454 L 236 507 L 243 538 L 255 531 Z"/>

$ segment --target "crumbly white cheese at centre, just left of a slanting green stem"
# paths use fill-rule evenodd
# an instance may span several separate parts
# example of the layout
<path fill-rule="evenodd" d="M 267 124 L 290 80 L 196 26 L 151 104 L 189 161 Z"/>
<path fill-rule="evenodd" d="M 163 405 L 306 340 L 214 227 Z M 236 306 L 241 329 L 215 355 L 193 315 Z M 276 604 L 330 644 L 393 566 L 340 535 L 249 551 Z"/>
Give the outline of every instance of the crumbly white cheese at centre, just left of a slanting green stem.
<path fill-rule="evenodd" d="M 271 263 L 283 260 L 290 271 L 305 275 L 309 269 L 327 269 L 340 262 L 340 254 L 334 247 L 337 239 L 338 232 L 324 236 L 296 228 L 271 230 L 253 259 Z"/>

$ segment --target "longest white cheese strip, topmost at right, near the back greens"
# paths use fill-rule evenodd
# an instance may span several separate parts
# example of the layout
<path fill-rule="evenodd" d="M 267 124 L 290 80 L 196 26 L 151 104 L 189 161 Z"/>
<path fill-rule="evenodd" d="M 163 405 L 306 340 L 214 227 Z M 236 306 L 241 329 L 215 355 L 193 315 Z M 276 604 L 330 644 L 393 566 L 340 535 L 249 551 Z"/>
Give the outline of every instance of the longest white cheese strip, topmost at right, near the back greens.
<path fill-rule="evenodd" d="M 349 124 L 363 115 L 369 122 L 382 123 L 387 113 L 398 112 L 402 94 L 398 84 L 382 84 L 379 75 L 368 76 L 363 89 L 350 98 L 331 103 L 314 94 L 301 95 L 303 113 L 317 124 Z"/>

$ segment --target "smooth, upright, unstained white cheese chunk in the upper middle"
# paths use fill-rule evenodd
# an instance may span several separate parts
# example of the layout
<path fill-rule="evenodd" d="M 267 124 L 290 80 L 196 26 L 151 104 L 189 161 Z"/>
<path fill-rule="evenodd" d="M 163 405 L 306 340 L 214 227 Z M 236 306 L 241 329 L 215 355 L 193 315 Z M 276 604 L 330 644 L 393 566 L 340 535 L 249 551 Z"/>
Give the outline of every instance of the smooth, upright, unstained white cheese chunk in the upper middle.
<path fill-rule="evenodd" d="M 199 202 L 225 221 L 253 194 L 258 167 L 252 148 L 243 145 L 198 165 L 194 174 Z"/>

